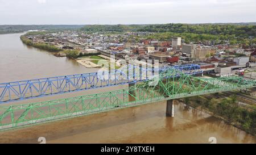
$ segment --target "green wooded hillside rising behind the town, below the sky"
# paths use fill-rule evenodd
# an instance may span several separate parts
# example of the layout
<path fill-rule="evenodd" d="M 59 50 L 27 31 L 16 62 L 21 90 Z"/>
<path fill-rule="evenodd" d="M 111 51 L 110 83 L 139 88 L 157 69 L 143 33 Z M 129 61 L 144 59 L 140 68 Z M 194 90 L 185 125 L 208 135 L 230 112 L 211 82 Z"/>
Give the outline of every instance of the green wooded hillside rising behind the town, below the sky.
<path fill-rule="evenodd" d="M 152 32 L 146 39 L 170 40 L 182 37 L 186 43 L 256 44 L 256 25 L 251 24 L 147 24 L 147 25 L 90 25 L 85 32 Z"/>

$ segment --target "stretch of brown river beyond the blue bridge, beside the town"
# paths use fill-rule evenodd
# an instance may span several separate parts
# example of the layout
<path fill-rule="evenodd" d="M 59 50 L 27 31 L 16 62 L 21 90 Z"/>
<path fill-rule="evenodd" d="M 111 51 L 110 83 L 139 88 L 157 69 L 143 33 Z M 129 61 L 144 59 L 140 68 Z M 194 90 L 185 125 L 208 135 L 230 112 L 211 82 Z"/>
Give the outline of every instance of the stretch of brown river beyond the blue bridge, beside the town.
<path fill-rule="evenodd" d="M 5 75 L 1 76 L 0 82 L 95 72 L 75 60 L 27 47 L 20 41 L 20 35 L 22 33 L 0 35 L 0 73 Z"/>

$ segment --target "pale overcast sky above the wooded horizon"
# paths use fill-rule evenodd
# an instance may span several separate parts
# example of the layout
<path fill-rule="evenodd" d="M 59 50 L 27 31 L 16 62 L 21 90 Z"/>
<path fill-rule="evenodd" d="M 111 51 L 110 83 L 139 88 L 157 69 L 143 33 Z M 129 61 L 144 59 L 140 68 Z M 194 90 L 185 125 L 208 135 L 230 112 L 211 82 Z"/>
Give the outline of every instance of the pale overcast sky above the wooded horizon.
<path fill-rule="evenodd" d="M 0 24 L 256 22 L 256 0 L 0 0 Z"/>

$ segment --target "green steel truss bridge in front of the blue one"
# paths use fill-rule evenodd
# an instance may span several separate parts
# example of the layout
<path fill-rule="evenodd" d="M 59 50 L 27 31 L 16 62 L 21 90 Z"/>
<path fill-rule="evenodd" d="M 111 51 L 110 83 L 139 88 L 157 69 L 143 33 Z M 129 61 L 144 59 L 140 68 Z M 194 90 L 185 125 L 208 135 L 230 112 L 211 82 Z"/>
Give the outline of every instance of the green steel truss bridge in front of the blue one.
<path fill-rule="evenodd" d="M 10 129 L 23 125 L 117 110 L 162 100 L 251 87 L 256 87 L 255 80 L 247 80 L 237 76 L 221 78 L 195 77 L 180 72 L 175 68 L 170 68 L 160 72 L 158 77 L 148 81 L 130 83 L 129 86 L 122 90 L 47 102 L 0 106 L 0 129 Z"/>

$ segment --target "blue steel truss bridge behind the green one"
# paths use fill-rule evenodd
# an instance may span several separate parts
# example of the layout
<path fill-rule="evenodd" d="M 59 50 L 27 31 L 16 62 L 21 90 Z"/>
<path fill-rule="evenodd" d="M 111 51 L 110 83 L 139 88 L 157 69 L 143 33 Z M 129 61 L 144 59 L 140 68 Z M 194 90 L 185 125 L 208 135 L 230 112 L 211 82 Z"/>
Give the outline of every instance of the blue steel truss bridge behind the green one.
<path fill-rule="evenodd" d="M 0 103 L 70 93 L 72 91 L 143 82 L 170 68 L 180 70 L 180 72 L 189 75 L 203 73 L 200 66 L 196 64 L 162 68 L 127 65 L 121 69 L 112 70 L 111 72 L 101 71 L 97 73 L 6 82 L 0 83 Z"/>

